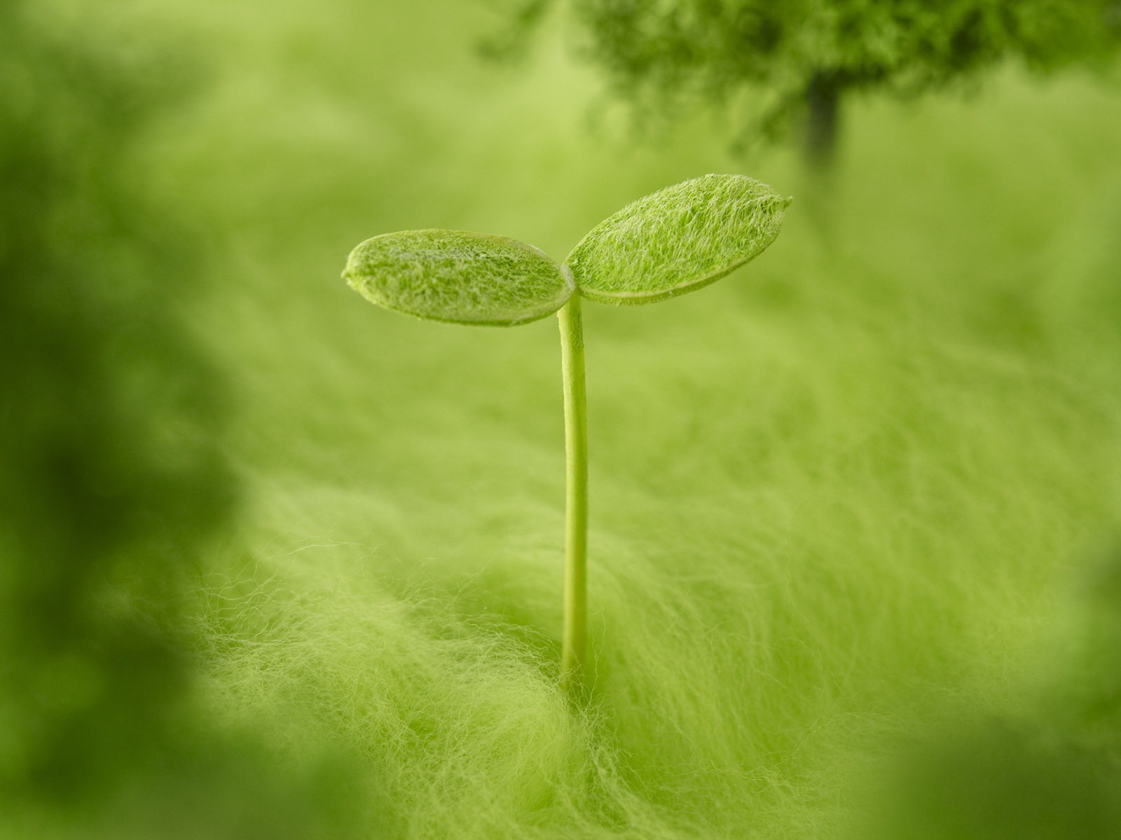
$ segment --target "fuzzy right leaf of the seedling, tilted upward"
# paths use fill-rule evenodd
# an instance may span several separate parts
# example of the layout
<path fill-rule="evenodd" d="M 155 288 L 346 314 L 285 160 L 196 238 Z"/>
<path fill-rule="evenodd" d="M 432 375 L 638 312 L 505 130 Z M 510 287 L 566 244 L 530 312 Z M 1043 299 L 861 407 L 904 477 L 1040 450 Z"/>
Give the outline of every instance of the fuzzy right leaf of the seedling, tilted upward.
<path fill-rule="evenodd" d="M 758 256 L 778 236 L 789 204 L 743 175 L 706 175 L 628 204 L 593 227 L 565 263 L 584 297 L 652 304 Z"/>

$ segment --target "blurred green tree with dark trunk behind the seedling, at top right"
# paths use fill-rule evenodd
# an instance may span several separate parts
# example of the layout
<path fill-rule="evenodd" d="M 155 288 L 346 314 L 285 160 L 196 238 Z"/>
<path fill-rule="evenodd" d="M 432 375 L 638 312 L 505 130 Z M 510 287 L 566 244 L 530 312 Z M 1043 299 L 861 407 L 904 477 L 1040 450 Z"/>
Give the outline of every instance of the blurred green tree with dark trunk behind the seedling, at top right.
<path fill-rule="evenodd" d="M 529 0 L 491 54 L 520 49 L 557 0 Z M 1097 62 L 1121 43 L 1117 0 L 568 0 L 582 52 L 640 105 L 750 91 L 745 130 L 769 139 L 800 124 L 809 161 L 826 167 L 844 99 L 910 96 L 1018 57 L 1039 72 Z"/>

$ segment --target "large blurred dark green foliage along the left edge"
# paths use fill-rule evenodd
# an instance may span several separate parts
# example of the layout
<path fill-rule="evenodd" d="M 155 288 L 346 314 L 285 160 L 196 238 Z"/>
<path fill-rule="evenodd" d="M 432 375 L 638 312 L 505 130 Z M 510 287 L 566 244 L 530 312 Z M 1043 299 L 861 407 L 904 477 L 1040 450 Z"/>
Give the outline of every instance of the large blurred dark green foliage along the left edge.
<path fill-rule="evenodd" d="M 235 486 L 202 250 L 139 161 L 198 67 L 66 11 L 0 2 L 0 836 L 368 836 L 348 756 L 278 760 L 192 691 Z"/>

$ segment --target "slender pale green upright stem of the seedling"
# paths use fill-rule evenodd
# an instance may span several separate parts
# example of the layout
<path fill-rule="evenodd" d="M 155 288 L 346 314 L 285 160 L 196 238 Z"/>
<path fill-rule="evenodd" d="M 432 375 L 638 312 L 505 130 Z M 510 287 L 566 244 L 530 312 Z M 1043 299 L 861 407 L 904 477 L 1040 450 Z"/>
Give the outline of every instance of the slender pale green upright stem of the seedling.
<path fill-rule="evenodd" d="M 557 312 L 557 319 L 560 321 L 560 372 L 564 377 L 566 477 L 560 687 L 580 699 L 587 637 L 587 398 L 578 293 L 568 298 Z"/>

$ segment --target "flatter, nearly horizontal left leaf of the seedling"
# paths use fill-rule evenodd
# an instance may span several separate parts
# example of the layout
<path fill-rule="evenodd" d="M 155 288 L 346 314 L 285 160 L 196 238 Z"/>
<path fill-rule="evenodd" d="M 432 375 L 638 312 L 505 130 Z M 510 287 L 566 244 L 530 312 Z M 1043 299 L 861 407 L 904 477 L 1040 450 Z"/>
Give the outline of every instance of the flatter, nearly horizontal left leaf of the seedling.
<path fill-rule="evenodd" d="M 507 327 L 552 315 L 574 290 L 568 269 L 532 245 L 465 231 L 374 236 L 351 251 L 343 278 L 387 309 Z"/>

